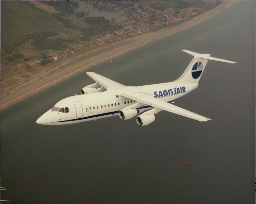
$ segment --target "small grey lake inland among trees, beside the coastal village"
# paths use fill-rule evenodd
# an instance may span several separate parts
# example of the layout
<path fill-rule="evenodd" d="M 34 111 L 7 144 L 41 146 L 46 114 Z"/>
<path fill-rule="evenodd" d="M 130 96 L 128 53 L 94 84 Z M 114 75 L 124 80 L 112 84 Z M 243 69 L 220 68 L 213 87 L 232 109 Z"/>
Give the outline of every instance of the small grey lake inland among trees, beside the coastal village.
<path fill-rule="evenodd" d="M 111 18 L 115 18 L 116 22 L 120 20 L 124 20 L 124 16 L 121 13 L 115 12 L 115 11 L 106 11 L 106 10 L 99 10 L 97 8 L 94 8 L 91 4 L 88 4 L 86 1 L 79 1 L 79 7 L 76 8 L 76 12 L 81 12 L 84 11 L 85 14 L 86 12 L 89 12 L 88 16 L 104 16 L 105 19 L 108 19 L 109 21 Z M 74 18 L 76 20 L 76 15 L 74 14 Z"/>

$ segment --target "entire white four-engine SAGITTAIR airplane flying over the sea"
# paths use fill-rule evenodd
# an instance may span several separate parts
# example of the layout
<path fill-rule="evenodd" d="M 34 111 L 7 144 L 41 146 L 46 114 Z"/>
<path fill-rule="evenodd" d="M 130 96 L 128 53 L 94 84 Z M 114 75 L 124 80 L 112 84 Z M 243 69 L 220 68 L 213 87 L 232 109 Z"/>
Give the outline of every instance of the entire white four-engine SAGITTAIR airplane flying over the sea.
<path fill-rule="evenodd" d="M 183 52 L 194 56 L 187 69 L 173 82 L 144 86 L 125 86 L 95 72 L 86 72 L 94 81 L 81 89 L 81 95 L 64 98 L 36 120 L 42 125 L 66 125 L 89 120 L 98 120 L 119 115 L 123 120 L 136 117 L 137 124 L 146 126 L 154 122 L 157 113 L 168 111 L 201 122 L 211 120 L 199 114 L 173 105 L 174 101 L 194 91 L 208 60 L 237 63 L 199 54 L 189 50 Z"/>

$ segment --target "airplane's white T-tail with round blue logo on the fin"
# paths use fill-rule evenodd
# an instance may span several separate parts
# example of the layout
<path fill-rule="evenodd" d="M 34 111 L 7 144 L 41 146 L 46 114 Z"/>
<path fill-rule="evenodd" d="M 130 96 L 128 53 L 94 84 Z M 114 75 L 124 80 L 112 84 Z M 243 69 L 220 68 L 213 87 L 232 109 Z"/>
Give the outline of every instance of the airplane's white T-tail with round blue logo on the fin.
<path fill-rule="evenodd" d="M 176 80 L 176 82 L 179 82 L 182 84 L 198 83 L 208 60 L 227 62 L 232 64 L 237 63 L 229 60 L 211 57 L 210 56 L 211 54 L 200 54 L 200 53 L 189 51 L 189 50 L 182 50 L 182 51 L 185 53 L 188 53 L 189 55 L 194 56 L 194 58 L 188 65 L 187 69 L 184 71 L 181 77 Z"/>

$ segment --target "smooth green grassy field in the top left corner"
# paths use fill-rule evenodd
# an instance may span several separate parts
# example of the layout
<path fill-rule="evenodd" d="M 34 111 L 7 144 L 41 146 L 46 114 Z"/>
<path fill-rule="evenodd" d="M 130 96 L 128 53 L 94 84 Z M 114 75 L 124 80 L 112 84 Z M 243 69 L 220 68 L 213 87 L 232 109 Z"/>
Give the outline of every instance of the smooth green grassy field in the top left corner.
<path fill-rule="evenodd" d="M 42 31 L 62 31 L 63 27 L 48 12 L 29 2 L 1 2 L 1 47 L 13 45 L 18 38 Z"/>

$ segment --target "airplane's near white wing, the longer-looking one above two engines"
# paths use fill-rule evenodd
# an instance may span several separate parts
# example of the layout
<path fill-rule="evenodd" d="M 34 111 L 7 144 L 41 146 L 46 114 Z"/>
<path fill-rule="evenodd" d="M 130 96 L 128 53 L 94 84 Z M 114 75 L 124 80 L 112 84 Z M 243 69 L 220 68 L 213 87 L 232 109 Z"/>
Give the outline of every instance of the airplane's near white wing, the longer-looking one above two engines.
<path fill-rule="evenodd" d="M 153 98 L 153 97 L 148 96 L 141 92 L 127 91 L 127 92 L 122 93 L 121 96 L 138 101 L 142 104 L 147 104 L 148 106 L 152 106 L 152 107 L 164 110 L 164 111 L 182 115 L 182 116 L 185 116 L 185 117 L 188 117 L 188 118 L 191 118 L 194 120 L 198 120 L 201 122 L 211 120 L 202 115 L 190 112 L 190 111 L 180 108 L 178 106 L 174 106 L 172 104 L 169 104 L 169 103 L 159 100 L 157 98 Z"/>

